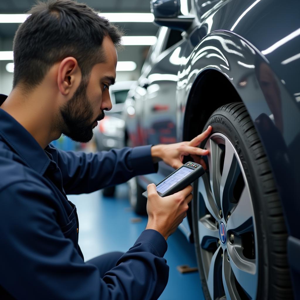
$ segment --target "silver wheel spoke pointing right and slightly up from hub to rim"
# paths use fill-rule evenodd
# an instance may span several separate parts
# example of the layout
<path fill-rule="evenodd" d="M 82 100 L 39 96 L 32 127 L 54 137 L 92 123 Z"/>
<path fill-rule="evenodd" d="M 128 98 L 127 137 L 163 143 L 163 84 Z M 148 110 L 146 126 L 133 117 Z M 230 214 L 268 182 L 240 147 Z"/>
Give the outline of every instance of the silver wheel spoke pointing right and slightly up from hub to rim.
<path fill-rule="evenodd" d="M 236 233 L 243 233 L 249 230 L 249 226 L 252 226 L 252 220 L 250 219 L 254 215 L 251 203 L 250 191 L 245 185 L 241 197 L 228 220 L 227 230 L 232 230 Z"/>

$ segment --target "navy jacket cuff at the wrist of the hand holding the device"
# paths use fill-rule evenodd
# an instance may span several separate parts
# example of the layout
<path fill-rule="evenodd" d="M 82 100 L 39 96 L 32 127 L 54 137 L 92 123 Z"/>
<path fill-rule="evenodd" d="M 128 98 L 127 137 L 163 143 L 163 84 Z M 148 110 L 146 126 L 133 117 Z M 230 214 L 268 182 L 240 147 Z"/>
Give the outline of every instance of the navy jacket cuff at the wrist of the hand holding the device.
<path fill-rule="evenodd" d="M 152 249 L 152 253 L 158 257 L 164 257 L 168 244 L 165 238 L 154 229 L 144 230 L 134 244 L 147 243 Z"/>

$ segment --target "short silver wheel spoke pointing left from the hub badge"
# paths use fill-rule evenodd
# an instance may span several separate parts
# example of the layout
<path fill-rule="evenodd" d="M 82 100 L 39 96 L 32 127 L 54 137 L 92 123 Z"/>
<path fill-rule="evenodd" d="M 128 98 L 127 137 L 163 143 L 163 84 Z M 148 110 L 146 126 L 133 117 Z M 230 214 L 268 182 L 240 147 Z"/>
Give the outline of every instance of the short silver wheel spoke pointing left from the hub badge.
<path fill-rule="evenodd" d="M 199 242 L 200 246 L 207 249 L 212 242 L 217 242 L 219 238 L 219 230 L 217 226 L 209 220 L 210 215 L 207 214 L 198 221 Z"/>

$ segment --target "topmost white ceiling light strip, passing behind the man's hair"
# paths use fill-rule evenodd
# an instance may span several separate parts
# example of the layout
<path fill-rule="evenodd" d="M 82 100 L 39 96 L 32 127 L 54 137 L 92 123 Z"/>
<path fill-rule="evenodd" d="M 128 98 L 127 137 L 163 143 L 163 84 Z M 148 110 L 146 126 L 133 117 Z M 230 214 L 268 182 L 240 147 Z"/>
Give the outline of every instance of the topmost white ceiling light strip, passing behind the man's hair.
<path fill-rule="evenodd" d="M 154 16 L 152 13 L 98 13 L 99 16 L 103 16 L 110 20 L 110 22 L 146 22 L 152 23 Z M 0 23 L 23 23 L 29 14 L 26 13 L 1 13 Z"/>

